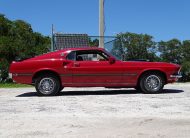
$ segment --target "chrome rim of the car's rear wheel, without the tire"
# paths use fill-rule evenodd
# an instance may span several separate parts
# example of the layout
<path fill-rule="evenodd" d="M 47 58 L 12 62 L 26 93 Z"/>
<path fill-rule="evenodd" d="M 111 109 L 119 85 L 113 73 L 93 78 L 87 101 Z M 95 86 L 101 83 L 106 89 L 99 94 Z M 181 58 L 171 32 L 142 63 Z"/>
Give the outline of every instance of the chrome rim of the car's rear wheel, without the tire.
<path fill-rule="evenodd" d="M 44 95 L 51 94 L 55 89 L 55 82 L 51 78 L 43 78 L 38 85 L 38 89 Z"/>

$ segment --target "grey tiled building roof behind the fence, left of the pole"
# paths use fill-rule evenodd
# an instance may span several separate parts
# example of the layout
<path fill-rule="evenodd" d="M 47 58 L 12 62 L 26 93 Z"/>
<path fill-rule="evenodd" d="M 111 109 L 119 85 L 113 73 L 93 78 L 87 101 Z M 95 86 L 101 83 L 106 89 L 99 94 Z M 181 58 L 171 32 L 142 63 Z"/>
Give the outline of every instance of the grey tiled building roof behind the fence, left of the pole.
<path fill-rule="evenodd" d="M 77 48 L 89 46 L 89 37 L 87 34 L 54 34 L 54 50 L 64 48 Z"/>

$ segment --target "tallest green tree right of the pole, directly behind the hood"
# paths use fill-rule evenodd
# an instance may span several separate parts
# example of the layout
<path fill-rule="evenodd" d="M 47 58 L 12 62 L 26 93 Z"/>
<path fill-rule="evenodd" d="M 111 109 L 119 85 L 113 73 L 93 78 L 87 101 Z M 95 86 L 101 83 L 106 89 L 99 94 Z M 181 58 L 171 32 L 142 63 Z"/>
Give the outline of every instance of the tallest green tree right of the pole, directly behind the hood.
<path fill-rule="evenodd" d="M 147 34 L 120 33 L 117 36 L 125 49 L 126 60 L 149 59 L 156 60 L 156 43 Z"/>

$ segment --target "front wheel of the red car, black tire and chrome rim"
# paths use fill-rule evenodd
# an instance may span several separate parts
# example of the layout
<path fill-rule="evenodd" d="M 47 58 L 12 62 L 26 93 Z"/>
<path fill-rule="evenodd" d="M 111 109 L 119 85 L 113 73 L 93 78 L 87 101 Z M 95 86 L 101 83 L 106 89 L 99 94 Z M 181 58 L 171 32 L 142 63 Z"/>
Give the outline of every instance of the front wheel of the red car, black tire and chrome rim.
<path fill-rule="evenodd" d="M 140 79 L 140 88 L 145 94 L 158 94 L 164 85 L 165 80 L 160 73 L 146 73 Z"/>

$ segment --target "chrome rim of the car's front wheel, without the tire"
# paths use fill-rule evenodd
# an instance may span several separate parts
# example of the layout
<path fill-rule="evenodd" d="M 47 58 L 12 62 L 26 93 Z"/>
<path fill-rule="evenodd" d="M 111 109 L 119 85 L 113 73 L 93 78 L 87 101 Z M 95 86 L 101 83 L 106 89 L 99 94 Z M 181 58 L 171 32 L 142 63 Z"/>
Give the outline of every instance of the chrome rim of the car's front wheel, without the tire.
<path fill-rule="evenodd" d="M 145 79 L 145 88 L 149 91 L 158 91 L 162 87 L 161 79 L 156 75 L 150 75 Z"/>

